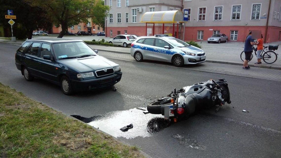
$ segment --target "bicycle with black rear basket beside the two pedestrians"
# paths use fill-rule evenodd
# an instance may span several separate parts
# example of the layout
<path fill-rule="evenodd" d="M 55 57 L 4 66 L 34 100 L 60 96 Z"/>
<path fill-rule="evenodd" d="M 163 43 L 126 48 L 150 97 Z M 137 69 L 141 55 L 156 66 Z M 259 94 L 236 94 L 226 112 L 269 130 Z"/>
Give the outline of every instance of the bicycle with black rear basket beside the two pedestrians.
<path fill-rule="evenodd" d="M 264 49 L 260 53 L 261 59 L 268 64 L 274 63 L 277 60 L 277 55 L 279 55 L 274 52 L 275 50 L 278 49 L 278 45 L 275 45 L 275 46 L 269 45 L 269 46 L 263 46 L 263 47 L 264 47 Z M 269 49 L 267 49 L 268 47 L 269 47 Z M 266 50 L 266 51 L 264 51 L 264 50 Z M 253 47 L 253 52 L 254 51 L 255 51 L 255 55 L 257 56 L 257 48 Z M 251 59 L 249 61 L 251 61 L 253 58 L 253 52 L 251 53 Z M 242 61 L 244 61 L 244 59 L 245 59 L 244 51 L 241 52 L 240 58 Z"/>

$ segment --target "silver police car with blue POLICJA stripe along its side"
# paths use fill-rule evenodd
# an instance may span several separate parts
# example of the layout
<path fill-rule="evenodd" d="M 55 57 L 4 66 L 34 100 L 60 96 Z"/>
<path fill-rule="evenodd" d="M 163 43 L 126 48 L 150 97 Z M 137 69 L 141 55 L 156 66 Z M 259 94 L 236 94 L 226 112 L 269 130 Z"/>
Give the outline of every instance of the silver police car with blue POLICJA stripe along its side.
<path fill-rule="evenodd" d="M 131 56 L 136 61 L 156 60 L 173 63 L 176 67 L 184 64 L 198 64 L 206 61 L 205 52 L 175 37 L 156 35 L 139 37 L 131 44 Z"/>

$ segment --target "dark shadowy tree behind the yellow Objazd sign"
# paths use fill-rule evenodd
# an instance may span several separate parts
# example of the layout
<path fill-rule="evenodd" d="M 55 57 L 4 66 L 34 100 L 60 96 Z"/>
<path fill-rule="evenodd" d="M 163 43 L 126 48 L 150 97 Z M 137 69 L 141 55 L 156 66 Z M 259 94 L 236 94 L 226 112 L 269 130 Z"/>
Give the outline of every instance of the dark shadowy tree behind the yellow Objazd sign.
<path fill-rule="evenodd" d="M 47 16 L 46 10 L 40 6 L 31 6 L 24 0 L 0 0 L 0 13 L 7 15 L 7 10 L 13 10 L 17 19 L 14 19 L 13 31 L 17 38 L 31 39 L 32 32 L 38 29 L 49 29 L 52 22 Z M 7 27 L 9 19 L 0 18 L 0 22 Z M 9 24 L 8 24 L 9 25 Z M 10 26 L 10 25 L 9 25 Z"/>

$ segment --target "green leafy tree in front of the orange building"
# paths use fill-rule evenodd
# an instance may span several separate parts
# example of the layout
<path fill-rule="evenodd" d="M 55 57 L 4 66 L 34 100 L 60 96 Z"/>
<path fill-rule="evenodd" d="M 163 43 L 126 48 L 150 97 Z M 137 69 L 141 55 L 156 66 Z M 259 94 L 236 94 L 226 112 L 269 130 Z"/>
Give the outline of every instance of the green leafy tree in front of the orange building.
<path fill-rule="evenodd" d="M 56 26 L 61 26 L 62 31 L 58 38 L 62 38 L 67 29 L 81 22 L 88 22 L 88 19 L 97 16 L 95 6 L 99 0 L 26 0 L 34 6 L 42 6 L 47 10 L 49 17 Z M 103 9 L 105 6 L 99 9 Z M 98 16 L 97 16 L 98 17 Z M 96 18 L 96 17 L 93 17 Z"/>

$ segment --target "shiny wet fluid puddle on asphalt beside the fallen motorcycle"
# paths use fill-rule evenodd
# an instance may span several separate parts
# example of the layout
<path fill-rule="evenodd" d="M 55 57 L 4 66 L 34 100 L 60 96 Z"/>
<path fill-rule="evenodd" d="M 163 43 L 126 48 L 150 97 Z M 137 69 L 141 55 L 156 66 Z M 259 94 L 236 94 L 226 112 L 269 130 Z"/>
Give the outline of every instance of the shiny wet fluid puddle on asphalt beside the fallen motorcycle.
<path fill-rule="evenodd" d="M 78 115 L 71 116 L 116 138 L 124 137 L 126 139 L 133 139 L 138 136 L 149 137 L 155 132 L 159 132 L 169 126 L 169 122 L 164 119 L 164 116 L 149 113 L 144 114 L 143 112 L 147 112 L 146 107 L 134 108 L 126 111 L 114 111 L 90 118 Z M 122 127 L 126 127 L 130 124 L 133 124 L 133 128 L 125 132 L 120 130 Z"/>

